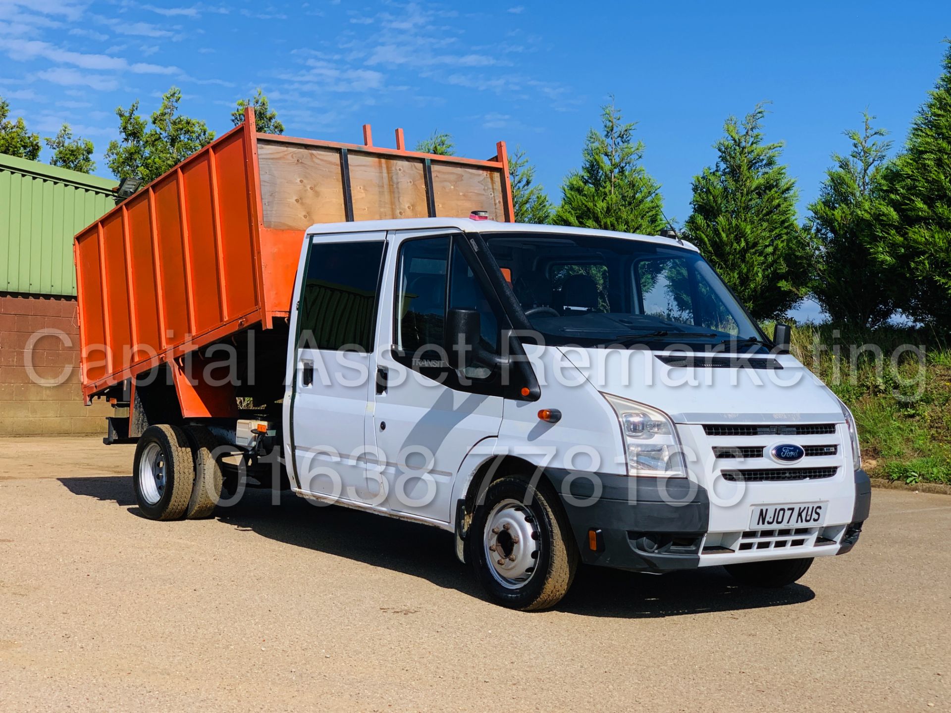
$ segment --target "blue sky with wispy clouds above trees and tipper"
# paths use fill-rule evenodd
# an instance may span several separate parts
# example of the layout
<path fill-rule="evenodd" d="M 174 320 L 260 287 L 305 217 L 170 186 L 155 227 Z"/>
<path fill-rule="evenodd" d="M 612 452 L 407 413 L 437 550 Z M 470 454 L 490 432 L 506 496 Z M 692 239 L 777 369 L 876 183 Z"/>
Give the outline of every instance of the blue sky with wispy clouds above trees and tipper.
<path fill-rule="evenodd" d="M 0 0 L 0 96 L 32 130 L 64 121 L 99 165 L 116 106 L 146 115 L 172 85 L 219 133 L 262 87 L 287 133 L 377 144 L 435 128 L 487 158 L 521 145 L 554 200 L 610 94 L 638 122 L 666 210 L 689 214 L 729 114 L 770 100 L 801 213 L 864 107 L 900 144 L 940 70 L 951 3 Z M 47 159 L 47 153 L 44 154 Z"/>

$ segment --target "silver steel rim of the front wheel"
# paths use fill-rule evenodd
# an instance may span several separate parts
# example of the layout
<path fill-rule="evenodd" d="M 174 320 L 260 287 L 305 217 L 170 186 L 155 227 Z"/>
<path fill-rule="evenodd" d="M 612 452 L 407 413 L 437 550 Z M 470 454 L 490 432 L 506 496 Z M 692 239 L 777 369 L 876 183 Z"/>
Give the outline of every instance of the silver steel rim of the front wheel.
<path fill-rule="evenodd" d="M 533 512 L 513 498 L 496 504 L 486 519 L 482 547 L 496 582 L 508 589 L 524 587 L 534 577 L 541 556 Z"/>

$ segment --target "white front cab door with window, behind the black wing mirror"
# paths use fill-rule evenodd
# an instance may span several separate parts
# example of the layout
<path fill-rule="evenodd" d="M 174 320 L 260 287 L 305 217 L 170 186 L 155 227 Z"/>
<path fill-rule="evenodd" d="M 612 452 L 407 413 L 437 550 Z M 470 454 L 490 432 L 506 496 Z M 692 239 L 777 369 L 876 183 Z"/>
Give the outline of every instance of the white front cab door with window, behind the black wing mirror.
<path fill-rule="evenodd" d="M 370 470 L 387 510 L 448 522 L 453 478 L 476 443 L 497 436 L 503 390 L 497 366 L 450 368 L 446 312 L 479 312 L 487 354 L 499 353 L 506 324 L 461 233 L 391 233 L 389 253 L 378 323 L 389 348 L 376 363 Z"/>

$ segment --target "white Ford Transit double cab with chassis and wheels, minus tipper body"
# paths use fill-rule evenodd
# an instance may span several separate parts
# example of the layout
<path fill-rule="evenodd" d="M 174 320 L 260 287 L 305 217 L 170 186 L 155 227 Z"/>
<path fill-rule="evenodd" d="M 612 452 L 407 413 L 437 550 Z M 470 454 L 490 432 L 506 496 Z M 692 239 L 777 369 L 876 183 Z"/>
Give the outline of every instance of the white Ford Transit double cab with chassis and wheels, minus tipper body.
<path fill-rule="evenodd" d="M 851 414 L 688 242 L 480 212 L 298 235 L 285 316 L 240 338 L 127 372 L 107 349 L 120 378 L 103 386 L 84 323 L 87 395 L 127 410 L 107 442 L 137 443 L 146 516 L 207 516 L 235 454 L 249 483 L 276 453 L 302 497 L 453 532 L 520 609 L 553 607 L 581 563 L 781 587 L 856 544 L 870 487 Z"/>

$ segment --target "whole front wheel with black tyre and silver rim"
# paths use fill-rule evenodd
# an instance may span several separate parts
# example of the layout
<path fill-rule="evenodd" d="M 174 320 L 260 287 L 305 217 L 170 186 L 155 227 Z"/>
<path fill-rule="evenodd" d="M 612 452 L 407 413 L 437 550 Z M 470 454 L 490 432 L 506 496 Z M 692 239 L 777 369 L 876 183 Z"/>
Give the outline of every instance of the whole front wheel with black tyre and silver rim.
<path fill-rule="evenodd" d="M 525 503 L 528 502 L 528 505 Z M 467 535 L 469 561 L 503 607 L 553 607 L 572 586 L 578 551 L 557 495 L 547 484 L 496 480 L 476 507 Z"/>

